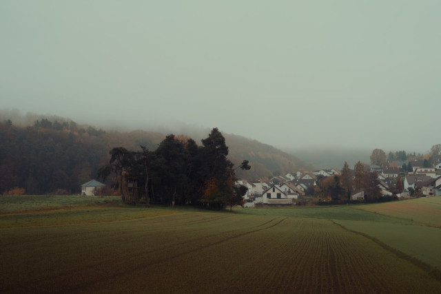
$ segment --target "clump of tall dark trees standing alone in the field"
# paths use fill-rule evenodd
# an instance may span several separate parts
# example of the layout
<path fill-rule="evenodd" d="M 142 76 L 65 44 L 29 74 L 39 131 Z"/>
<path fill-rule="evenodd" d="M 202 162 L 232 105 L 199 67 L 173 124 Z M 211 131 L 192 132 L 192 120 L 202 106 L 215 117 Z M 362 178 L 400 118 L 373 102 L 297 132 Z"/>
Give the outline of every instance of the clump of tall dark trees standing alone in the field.
<path fill-rule="evenodd" d="M 124 147 L 110 150 L 110 162 L 99 176 L 114 178 L 124 202 L 191 204 L 212 209 L 243 204 L 246 188 L 234 185 L 234 165 L 227 159 L 228 147 L 217 128 L 198 146 L 192 138 L 170 134 L 150 151 Z M 249 169 L 243 160 L 241 169 Z"/>

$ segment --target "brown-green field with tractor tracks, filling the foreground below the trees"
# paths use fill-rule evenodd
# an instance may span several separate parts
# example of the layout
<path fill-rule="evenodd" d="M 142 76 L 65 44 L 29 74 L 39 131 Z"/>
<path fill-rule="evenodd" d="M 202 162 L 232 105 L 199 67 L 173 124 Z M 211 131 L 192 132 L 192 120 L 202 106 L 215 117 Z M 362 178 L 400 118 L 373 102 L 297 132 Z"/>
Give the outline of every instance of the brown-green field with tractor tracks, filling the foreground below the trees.
<path fill-rule="evenodd" d="M 405 235 L 407 226 L 438 242 L 440 229 L 404 218 L 359 207 L 216 213 L 114 205 L 1 213 L 0 292 L 441 292 L 427 268 L 369 237 L 378 228 Z M 25 227 L 14 223 L 34 215 Z"/>

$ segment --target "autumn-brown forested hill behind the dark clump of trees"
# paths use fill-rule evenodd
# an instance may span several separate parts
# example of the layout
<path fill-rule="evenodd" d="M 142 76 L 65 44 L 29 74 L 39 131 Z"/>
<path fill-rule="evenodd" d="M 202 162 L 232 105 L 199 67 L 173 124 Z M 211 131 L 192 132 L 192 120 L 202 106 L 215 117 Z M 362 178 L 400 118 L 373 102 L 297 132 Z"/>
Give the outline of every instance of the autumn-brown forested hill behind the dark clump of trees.
<path fill-rule="evenodd" d="M 207 133 L 208 135 L 208 133 Z M 309 166 L 269 145 L 240 136 L 223 134 L 229 160 L 236 166 L 249 160 L 252 169 L 237 174 L 248 180 L 270 176 L 275 171 L 296 171 Z M 14 187 L 26 193 L 56 193 L 64 189 L 79 193 L 80 185 L 97 177 L 108 163 L 113 147 L 156 149 L 166 134 L 147 131 L 103 131 L 73 121 L 39 119 L 32 126 L 0 123 L 0 194 Z M 194 138 L 196 143 L 201 140 Z"/>

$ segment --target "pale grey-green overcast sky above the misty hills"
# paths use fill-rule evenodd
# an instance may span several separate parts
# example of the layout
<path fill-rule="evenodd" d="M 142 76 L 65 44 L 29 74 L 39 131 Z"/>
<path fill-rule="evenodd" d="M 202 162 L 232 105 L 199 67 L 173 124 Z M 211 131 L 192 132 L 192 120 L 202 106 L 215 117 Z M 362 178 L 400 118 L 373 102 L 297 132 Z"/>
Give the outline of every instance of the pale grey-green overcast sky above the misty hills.
<path fill-rule="evenodd" d="M 0 1 L 0 101 L 276 147 L 441 143 L 441 1 Z"/>

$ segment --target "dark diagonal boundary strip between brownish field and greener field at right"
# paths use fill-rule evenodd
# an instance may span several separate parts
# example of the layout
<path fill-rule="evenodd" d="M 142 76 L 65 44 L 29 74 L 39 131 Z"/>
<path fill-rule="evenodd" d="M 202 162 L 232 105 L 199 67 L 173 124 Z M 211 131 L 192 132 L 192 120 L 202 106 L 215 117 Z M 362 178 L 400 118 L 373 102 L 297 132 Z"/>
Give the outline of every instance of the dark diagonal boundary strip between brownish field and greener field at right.
<path fill-rule="evenodd" d="M 337 222 L 334 222 L 334 220 L 331 220 L 333 224 L 336 224 L 338 227 L 341 227 L 345 231 L 349 231 L 351 233 L 356 233 L 357 235 L 361 235 L 362 237 L 365 237 L 376 244 L 380 245 L 383 249 L 386 249 L 387 251 L 393 253 L 398 258 L 401 258 L 402 260 L 407 260 L 408 262 L 411 262 L 411 264 L 417 266 L 418 268 L 422 269 L 426 273 L 428 273 L 431 277 L 435 278 L 435 280 L 438 280 L 441 282 L 441 270 L 436 268 L 435 266 L 432 266 L 430 264 L 427 264 L 426 262 L 423 262 L 422 260 L 419 260 L 418 258 L 415 258 L 407 253 L 404 253 L 396 248 L 393 248 L 392 246 L 389 246 L 388 244 L 378 240 L 377 238 L 372 237 L 371 235 L 368 235 L 366 233 L 362 233 L 359 231 L 354 231 L 351 229 L 348 229 L 342 224 L 338 224 Z"/>

